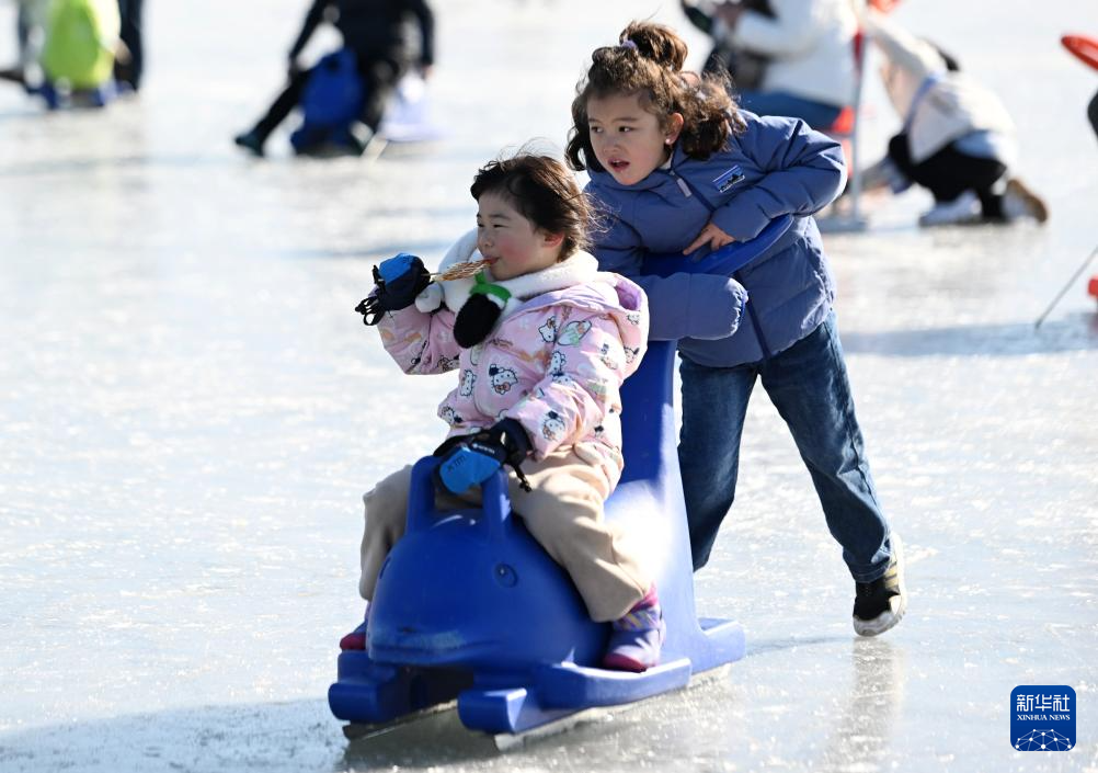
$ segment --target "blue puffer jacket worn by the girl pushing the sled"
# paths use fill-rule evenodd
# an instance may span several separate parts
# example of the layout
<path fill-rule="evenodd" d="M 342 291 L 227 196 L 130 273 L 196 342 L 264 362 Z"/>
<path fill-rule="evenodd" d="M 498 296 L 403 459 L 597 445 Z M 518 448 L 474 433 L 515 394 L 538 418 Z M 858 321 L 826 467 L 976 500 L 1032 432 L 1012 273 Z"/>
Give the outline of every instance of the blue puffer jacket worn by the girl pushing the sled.
<path fill-rule="evenodd" d="M 811 214 L 845 184 L 842 149 L 799 120 L 741 111 L 747 132 L 706 160 L 676 147 L 670 168 L 621 186 L 591 171 L 586 193 L 605 216 L 594 235 L 600 267 L 634 279 L 648 293 L 650 338 L 679 338 L 698 365 L 730 368 L 771 357 L 816 329 L 834 300 L 834 281 Z M 641 276 L 650 253 L 681 253 L 712 220 L 737 240 L 783 214 L 789 231 L 733 279 L 675 273 Z M 703 247 L 697 257 L 708 251 Z M 747 315 L 740 320 L 746 295 Z M 738 326 L 738 327 L 737 327 Z"/>

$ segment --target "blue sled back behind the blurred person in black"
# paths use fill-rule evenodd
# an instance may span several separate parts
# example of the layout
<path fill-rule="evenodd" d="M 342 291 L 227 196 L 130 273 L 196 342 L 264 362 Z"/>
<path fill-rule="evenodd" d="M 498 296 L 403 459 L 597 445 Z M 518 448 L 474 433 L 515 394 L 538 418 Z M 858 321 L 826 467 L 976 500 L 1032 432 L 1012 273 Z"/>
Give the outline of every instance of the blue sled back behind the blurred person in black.
<path fill-rule="evenodd" d="M 301 94 L 304 120 L 290 135 L 298 154 L 352 147 L 348 127 L 362 112 L 366 88 L 355 52 L 340 48 L 321 58 Z"/>

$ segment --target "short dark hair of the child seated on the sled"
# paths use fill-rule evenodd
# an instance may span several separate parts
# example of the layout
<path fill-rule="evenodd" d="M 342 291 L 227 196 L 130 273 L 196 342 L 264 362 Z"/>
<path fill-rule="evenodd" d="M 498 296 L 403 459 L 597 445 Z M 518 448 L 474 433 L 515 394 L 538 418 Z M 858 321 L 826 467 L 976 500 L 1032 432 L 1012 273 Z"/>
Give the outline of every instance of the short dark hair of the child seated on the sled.
<path fill-rule="evenodd" d="M 551 156 L 519 150 L 509 158 L 496 158 L 477 170 L 469 192 L 480 201 L 485 193 L 501 197 L 549 234 L 562 234 L 560 256 L 567 260 L 590 245 L 591 208 L 563 164 Z"/>

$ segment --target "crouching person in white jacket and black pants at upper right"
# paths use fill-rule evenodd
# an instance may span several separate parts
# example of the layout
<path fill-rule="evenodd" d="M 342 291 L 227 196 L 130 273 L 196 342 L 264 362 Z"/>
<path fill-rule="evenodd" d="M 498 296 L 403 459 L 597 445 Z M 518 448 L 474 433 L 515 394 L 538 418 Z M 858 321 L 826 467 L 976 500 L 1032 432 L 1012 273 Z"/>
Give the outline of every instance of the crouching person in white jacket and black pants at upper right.
<path fill-rule="evenodd" d="M 1018 143 L 999 98 L 883 14 L 867 10 L 862 25 L 884 54 L 881 76 L 903 121 L 887 156 L 865 170 L 864 188 L 928 189 L 934 205 L 919 219 L 925 226 L 1047 220 L 1044 202 L 1010 173 Z"/>

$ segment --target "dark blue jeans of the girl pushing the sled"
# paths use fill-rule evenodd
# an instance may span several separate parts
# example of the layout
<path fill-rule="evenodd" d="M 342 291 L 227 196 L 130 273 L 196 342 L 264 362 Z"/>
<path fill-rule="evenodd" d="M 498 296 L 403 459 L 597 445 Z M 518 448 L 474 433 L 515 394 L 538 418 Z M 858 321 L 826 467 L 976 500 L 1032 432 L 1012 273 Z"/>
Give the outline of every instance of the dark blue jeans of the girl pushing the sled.
<path fill-rule="evenodd" d="M 858 582 L 888 568 L 888 523 L 877 503 L 834 312 L 785 351 L 735 368 L 683 359 L 679 463 L 686 495 L 694 570 L 709 560 L 717 529 L 736 497 L 740 437 L 755 379 L 785 419 L 811 474 L 831 536 Z"/>

